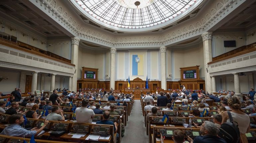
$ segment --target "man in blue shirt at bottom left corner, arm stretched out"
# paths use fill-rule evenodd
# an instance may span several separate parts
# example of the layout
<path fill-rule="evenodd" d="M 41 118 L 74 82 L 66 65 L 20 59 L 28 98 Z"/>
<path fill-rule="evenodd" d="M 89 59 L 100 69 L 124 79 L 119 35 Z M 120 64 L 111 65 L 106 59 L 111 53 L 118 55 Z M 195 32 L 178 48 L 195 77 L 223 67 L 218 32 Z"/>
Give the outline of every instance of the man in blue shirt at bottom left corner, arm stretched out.
<path fill-rule="evenodd" d="M 40 133 L 49 121 L 44 121 L 44 125 L 41 128 L 34 127 L 31 130 L 27 130 L 20 125 L 23 124 L 24 118 L 22 114 L 13 114 L 9 117 L 9 126 L 6 126 L 4 130 L 0 133 L 2 135 L 17 136 L 17 137 L 31 137 Z"/>

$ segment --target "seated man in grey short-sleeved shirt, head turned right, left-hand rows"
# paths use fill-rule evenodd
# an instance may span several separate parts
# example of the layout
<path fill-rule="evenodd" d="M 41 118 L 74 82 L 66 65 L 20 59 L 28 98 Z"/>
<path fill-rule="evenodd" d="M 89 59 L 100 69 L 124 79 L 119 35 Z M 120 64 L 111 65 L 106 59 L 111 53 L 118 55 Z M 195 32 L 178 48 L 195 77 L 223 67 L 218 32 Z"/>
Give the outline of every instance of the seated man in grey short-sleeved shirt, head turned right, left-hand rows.
<path fill-rule="evenodd" d="M 45 120 L 49 120 L 49 121 L 65 121 L 65 118 L 64 118 L 62 112 L 63 111 L 58 106 L 54 106 L 52 108 L 52 113 L 48 114 Z"/>

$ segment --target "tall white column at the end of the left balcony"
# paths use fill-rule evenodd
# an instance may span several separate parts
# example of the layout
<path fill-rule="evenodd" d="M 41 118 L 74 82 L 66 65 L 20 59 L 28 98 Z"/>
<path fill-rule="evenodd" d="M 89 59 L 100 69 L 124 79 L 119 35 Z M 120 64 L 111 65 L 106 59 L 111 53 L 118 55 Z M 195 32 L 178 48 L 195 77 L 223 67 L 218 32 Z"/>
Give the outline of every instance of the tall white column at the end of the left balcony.
<path fill-rule="evenodd" d="M 78 66 L 78 46 L 79 46 L 79 38 L 72 37 L 72 54 L 71 54 L 71 63 L 75 65 L 74 68 L 74 76 L 72 78 L 72 88 L 69 90 L 76 91 L 76 85 L 77 85 L 77 66 Z M 79 67 L 80 68 L 80 67 Z"/>

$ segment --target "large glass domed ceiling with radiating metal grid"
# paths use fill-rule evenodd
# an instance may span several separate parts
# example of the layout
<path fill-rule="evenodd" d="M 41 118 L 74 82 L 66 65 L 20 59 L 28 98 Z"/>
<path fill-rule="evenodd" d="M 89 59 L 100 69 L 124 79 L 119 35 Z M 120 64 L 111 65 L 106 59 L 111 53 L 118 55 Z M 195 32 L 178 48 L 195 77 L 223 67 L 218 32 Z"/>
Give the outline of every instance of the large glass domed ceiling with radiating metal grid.
<path fill-rule="evenodd" d="M 124 32 L 150 31 L 183 18 L 203 0 L 70 0 L 94 22 Z"/>

